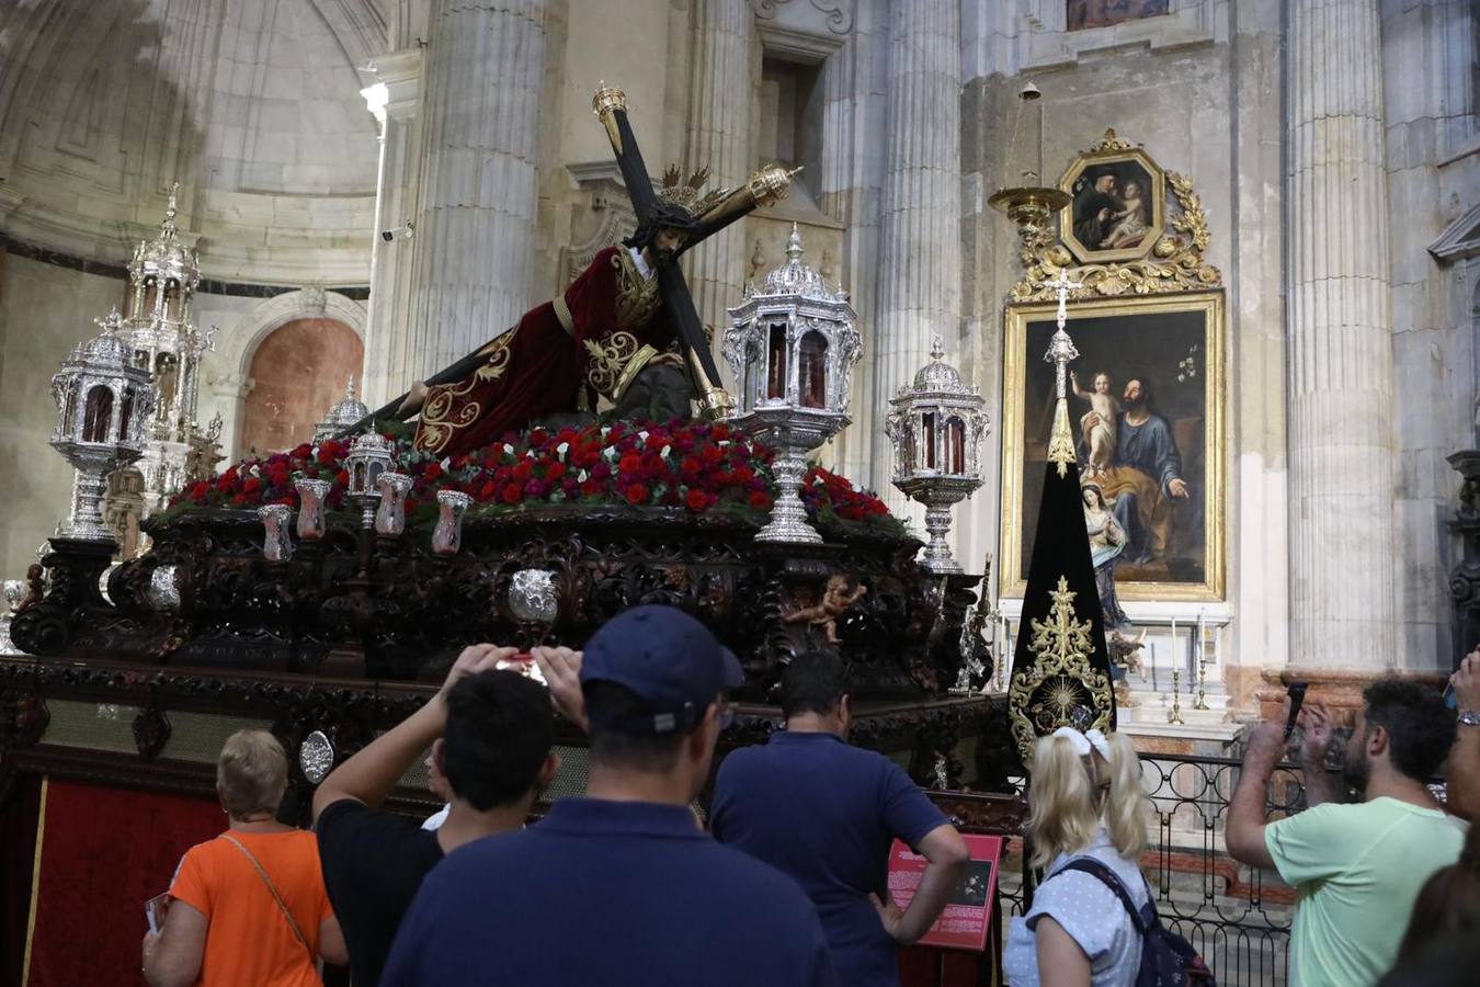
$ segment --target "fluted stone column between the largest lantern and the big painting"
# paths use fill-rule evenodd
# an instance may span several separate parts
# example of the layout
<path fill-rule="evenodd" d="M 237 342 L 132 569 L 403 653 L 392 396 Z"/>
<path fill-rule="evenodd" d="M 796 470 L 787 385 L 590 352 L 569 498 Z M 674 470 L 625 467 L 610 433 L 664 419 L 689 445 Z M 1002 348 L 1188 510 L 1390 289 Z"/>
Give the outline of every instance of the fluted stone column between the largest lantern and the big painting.
<path fill-rule="evenodd" d="M 891 0 L 873 408 L 929 363 L 961 363 L 961 16 L 956 0 Z M 895 511 L 894 450 L 875 429 L 867 478 Z M 861 479 L 861 478 L 860 478 Z M 918 515 L 912 511 L 910 516 Z"/>

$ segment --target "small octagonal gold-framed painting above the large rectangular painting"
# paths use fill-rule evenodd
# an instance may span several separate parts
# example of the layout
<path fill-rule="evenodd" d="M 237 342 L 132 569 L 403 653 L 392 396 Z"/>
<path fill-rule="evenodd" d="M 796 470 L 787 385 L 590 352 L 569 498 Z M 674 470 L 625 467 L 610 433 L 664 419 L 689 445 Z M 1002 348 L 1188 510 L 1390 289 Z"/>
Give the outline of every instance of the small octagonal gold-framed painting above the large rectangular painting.
<path fill-rule="evenodd" d="M 1060 213 L 1060 238 L 1085 263 L 1138 260 L 1162 235 L 1166 182 L 1140 149 L 1079 155 L 1060 188 L 1073 197 Z"/>

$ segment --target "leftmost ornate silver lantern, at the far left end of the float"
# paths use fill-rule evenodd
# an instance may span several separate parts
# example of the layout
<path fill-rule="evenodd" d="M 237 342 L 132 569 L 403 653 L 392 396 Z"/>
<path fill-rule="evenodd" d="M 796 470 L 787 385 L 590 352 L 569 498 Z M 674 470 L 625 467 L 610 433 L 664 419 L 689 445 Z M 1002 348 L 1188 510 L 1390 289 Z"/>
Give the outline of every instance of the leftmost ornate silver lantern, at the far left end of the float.
<path fill-rule="evenodd" d="M 104 478 L 144 454 L 145 423 L 154 414 L 149 371 L 133 364 L 118 309 L 99 320 L 102 333 L 73 349 L 52 376 L 56 429 L 52 448 L 77 471 L 73 506 L 56 534 L 64 539 L 114 542 L 102 516 Z"/>

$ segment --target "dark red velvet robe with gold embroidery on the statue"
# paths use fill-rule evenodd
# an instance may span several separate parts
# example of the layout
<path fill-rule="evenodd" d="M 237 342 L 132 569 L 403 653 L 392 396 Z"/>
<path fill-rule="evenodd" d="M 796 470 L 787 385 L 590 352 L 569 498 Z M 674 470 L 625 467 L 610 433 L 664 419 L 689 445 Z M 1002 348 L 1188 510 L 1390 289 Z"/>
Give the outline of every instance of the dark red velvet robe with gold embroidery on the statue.
<path fill-rule="evenodd" d="M 626 247 L 601 250 L 561 297 L 493 339 L 478 370 L 428 388 L 416 448 L 460 456 L 574 408 L 583 389 L 620 398 L 675 337 L 662 302 L 657 278 L 644 280 Z"/>

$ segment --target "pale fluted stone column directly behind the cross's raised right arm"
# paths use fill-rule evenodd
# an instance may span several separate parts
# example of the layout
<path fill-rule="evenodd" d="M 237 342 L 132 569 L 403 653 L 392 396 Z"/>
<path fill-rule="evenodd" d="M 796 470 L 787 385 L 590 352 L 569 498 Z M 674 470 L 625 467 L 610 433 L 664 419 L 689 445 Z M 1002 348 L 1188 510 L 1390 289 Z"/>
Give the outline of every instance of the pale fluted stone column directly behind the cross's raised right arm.
<path fill-rule="evenodd" d="M 734 188 L 753 170 L 750 158 L 750 36 L 755 15 L 740 0 L 696 0 L 694 67 L 688 102 L 688 169 L 707 166 L 710 186 Z M 642 141 L 642 135 L 638 135 Z M 656 144 L 654 144 L 656 146 Z M 645 151 L 651 154 L 651 151 Z M 654 178 L 663 164 L 647 158 Z M 685 176 L 687 178 L 687 176 Z M 744 281 L 744 222 L 684 255 L 684 274 L 699 320 L 721 339 L 740 303 Z M 724 361 L 718 361 L 725 367 Z M 725 373 L 728 368 L 725 367 Z"/>

